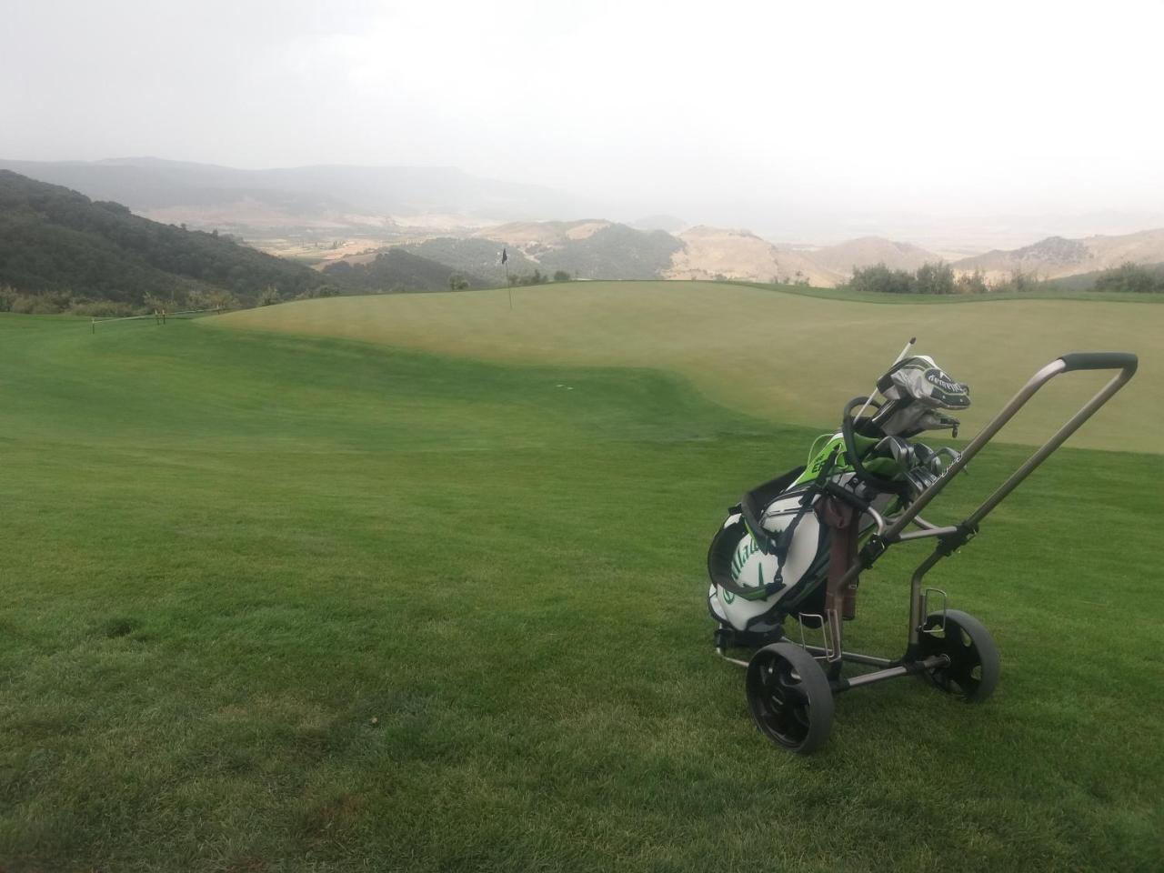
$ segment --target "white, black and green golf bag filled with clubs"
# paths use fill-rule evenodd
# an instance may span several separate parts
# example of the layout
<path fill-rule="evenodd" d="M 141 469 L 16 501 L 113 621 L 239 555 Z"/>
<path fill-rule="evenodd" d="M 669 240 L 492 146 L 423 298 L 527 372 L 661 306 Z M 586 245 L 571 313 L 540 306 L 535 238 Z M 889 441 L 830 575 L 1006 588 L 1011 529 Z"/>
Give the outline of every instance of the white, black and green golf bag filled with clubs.
<path fill-rule="evenodd" d="M 788 616 L 810 626 L 829 609 L 854 617 L 856 583 L 831 592 L 823 583 L 857 559 L 874 523 L 870 509 L 904 508 L 941 475 L 943 453 L 953 454 L 908 438 L 925 430 L 956 434 L 957 419 L 939 410 L 970 405 L 970 389 L 922 355 L 895 363 L 878 390 L 885 403 L 851 400 L 842 430 L 819 449 L 814 443 L 805 467 L 752 489 L 729 510 L 708 551 L 717 647 L 778 640 Z"/>

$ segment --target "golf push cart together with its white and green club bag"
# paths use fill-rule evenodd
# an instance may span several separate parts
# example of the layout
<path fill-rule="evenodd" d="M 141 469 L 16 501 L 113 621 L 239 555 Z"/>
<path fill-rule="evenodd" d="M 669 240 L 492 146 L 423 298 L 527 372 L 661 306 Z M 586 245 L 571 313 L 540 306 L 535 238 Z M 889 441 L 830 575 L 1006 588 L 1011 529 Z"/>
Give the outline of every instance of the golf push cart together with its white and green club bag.
<path fill-rule="evenodd" d="M 833 697 L 851 688 L 918 675 L 967 702 L 991 696 L 999 652 L 986 627 L 946 609 L 946 594 L 923 588 L 925 574 L 965 545 L 979 524 L 1064 440 L 1135 375 L 1122 352 L 1080 352 L 1043 367 L 961 450 L 931 449 L 911 440 L 923 431 L 958 434 L 947 416 L 970 405 L 970 389 L 931 357 L 910 355 L 910 340 L 872 397 L 850 400 L 840 432 L 817 438 L 807 467 L 748 491 L 729 510 L 708 552 L 708 606 L 716 619 L 716 653 L 747 668 L 748 708 L 760 732 L 808 754 L 828 739 Z M 1119 370 L 965 520 L 931 524 L 921 512 L 1043 385 L 1072 370 Z M 823 446 L 818 443 L 824 440 Z M 934 539 L 934 552 L 914 570 L 904 654 L 876 658 L 844 648 L 843 627 L 856 617 L 860 573 L 890 546 Z M 800 641 L 783 632 L 800 625 Z M 805 631 L 823 637 L 809 645 Z M 752 650 L 750 660 L 729 655 Z M 845 662 L 873 667 L 845 676 Z"/>

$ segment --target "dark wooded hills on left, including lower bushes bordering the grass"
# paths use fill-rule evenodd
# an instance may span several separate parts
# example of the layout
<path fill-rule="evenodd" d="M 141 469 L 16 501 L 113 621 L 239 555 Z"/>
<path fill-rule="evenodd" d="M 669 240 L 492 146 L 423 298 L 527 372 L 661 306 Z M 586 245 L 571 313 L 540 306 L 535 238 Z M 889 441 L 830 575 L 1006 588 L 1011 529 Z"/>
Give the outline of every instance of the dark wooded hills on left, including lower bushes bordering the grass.
<path fill-rule="evenodd" d="M 445 290 L 452 279 L 447 265 L 402 249 L 342 268 L 320 274 L 218 230 L 161 223 L 122 204 L 0 170 L 0 308 L 127 314 L 143 306 L 254 305 L 264 296 Z"/>

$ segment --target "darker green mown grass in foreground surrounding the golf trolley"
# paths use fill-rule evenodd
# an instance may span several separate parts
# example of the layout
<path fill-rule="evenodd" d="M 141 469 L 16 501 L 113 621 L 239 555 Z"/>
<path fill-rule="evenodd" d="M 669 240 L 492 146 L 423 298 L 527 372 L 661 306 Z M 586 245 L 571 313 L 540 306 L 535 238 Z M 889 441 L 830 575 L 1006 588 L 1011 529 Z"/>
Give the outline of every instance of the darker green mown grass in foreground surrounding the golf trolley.
<path fill-rule="evenodd" d="M 1159 455 L 1062 450 L 931 575 L 992 702 L 857 690 L 805 760 L 712 658 L 703 560 L 812 428 L 646 369 L 13 315 L 0 410 L 8 873 L 1164 863 Z M 897 653 L 923 554 L 856 647 Z"/>

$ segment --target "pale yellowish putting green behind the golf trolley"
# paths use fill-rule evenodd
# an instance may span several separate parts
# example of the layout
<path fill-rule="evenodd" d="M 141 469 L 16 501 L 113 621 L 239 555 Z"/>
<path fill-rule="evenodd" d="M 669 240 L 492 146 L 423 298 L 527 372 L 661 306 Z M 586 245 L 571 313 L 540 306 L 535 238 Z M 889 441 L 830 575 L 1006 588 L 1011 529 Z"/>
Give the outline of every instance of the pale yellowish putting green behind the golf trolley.
<path fill-rule="evenodd" d="M 697 282 L 587 282 L 471 294 L 306 300 L 206 322 L 345 336 L 516 363 L 651 368 L 769 421 L 831 427 L 910 336 L 972 389 L 968 438 L 1036 369 L 1065 352 L 1138 350 L 1136 381 L 1071 445 L 1164 452 L 1164 306 L 1094 300 L 878 305 Z M 892 297 L 892 296 L 888 296 Z M 1105 376 L 1052 382 L 1003 434 L 1035 443 Z"/>

